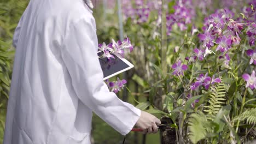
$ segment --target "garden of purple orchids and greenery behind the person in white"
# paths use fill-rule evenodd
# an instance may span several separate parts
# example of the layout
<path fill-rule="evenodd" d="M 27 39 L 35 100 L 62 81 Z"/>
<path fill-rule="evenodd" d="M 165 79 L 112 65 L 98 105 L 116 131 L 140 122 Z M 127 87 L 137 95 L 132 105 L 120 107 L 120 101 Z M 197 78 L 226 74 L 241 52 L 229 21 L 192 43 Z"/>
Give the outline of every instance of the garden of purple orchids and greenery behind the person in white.
<path fill-rule="evenodd" d="M 0 1 L 0 143 L 15 55 L 12 38 L 28 2 Z M 107 44 L 99 45 L 99 50 L 112 47 L 106 56 L 118 53 L 135 65 L 118 75 L 125 85 L 114 85 L 113 77 L 109 88 L 172 127 L 155 135 L 131 132 L 126 143 L 256 139 L 256 2 L 119 2 L 100 0 L 94 9 L 98 42 Z M 95 115 L 92 128 L 92 143 L 123 141 Z"/>

